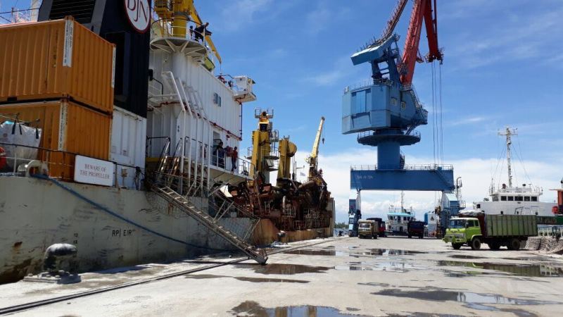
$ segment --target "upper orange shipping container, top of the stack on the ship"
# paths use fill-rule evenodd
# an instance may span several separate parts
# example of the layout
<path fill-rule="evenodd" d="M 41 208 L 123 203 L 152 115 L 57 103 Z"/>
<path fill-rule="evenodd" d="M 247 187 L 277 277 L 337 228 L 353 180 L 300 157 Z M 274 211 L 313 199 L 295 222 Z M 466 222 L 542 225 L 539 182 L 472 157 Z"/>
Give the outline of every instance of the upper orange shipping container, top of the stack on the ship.
<path fill-rule="evenodd" d="M 70 98 L 113 111 L 115 45 L 72 18 L 0 26 L 0 103 Z"/>

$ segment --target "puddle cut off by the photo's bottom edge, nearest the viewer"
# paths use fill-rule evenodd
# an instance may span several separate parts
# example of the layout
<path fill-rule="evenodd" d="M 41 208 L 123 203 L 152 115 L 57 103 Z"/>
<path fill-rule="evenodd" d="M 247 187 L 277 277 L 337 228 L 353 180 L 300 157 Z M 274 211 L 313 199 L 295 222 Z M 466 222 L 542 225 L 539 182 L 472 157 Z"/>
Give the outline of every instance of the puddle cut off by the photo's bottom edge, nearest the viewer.
<path fill-rule="evenodd" d="M 348 309 L 353 311 L 353 309 Z M 334 307 L 327 306 L 280 306 L 274 308 L 266 308 L 260 306 L 257 302 L 247 301 L 239 306 L 233 307 L 230 311 L 236 316 L 258 316 L 258 317 L 290 317 L 290 316 L 326 316 L 326 317 L 358 317 L 361 315 L 343 313 Z"/>

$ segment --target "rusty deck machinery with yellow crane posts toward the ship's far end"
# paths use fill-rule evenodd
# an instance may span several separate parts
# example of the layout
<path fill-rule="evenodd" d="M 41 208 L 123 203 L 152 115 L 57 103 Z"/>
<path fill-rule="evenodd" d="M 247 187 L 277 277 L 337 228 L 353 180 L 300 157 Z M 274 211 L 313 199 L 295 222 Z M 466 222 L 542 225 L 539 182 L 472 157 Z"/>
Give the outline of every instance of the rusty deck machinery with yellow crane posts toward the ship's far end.
<path fill-rule="evenodd" d="M 260 218 L 268 218 L 279 230 L 305 230 L 327 228 L 331 212 L 327 209 L 330 192 L 327 182 L 318 169 L 318 154 L 324 117 L 313 143 L 306 182 L 298 182 L 291 173 L 291 158 L 297 147 L 289 137 L 279 139 L 272 129 L 273 111 L 255 111 L 258 129 L 253 131 L 253 147 L 249 149 L 255 173 L 251 180 L 229 186 L 229 193 L 236 204 Z M 276 144 L 278 143 L 278 145 Z M 276 146 L 277 145 L 277 146 Z M 276 185 L 269 175 L 278 170 Z"/>

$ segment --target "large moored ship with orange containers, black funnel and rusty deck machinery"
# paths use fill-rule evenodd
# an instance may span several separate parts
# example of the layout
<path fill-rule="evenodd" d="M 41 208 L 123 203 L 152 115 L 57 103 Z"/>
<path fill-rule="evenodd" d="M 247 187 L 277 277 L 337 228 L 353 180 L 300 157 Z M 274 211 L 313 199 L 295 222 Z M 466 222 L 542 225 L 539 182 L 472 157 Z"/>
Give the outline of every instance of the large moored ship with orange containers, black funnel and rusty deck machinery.
<path fill-rule="evenodd" d="M 38 22 L 0 25 L 0 283 L 61 242 L 92 271 L 237 249 L 265 263 L 256 246 L 332 235 L 316 156 L 296 182 L 260 116 L 269 146 L 238 155 L 255 82 L 216 74 L 193 1 L 127 4 L 44 0 Z"/>

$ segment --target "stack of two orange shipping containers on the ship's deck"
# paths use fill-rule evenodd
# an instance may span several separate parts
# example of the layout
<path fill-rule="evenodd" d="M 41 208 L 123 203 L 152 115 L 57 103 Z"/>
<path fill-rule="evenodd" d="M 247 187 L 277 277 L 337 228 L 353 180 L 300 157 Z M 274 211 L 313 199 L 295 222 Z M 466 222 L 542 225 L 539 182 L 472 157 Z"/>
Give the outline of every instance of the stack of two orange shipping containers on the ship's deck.
<path fill-rule="evenodd" d="M 115 45 L 72 18 L 3 25 L 0 43 L 0 113 L 36 122 L 45 149 L 108 160 Z M 46 153 L 72 179 L 74 156 Z"/>

